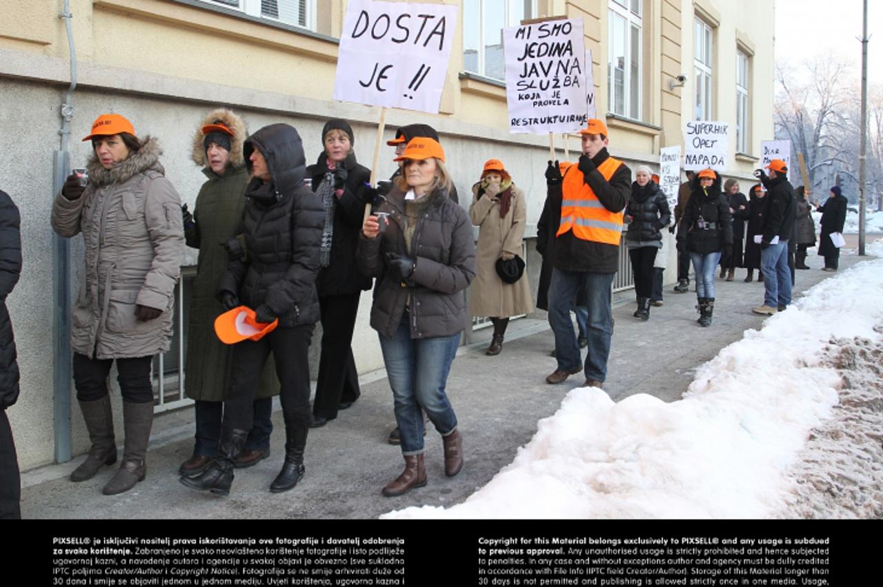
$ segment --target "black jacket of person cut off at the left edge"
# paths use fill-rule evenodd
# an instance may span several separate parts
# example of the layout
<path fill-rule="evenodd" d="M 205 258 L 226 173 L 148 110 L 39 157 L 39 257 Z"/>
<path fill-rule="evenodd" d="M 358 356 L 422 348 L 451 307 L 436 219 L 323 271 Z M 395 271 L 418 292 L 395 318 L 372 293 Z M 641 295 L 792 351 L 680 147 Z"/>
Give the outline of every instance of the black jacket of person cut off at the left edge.
<path fill-rule="evenodd" d="M 19 363 L 6 296 L 21 274 L 20 225 L 19 209 L 0 190 L 0 410 L 19 399 Z"/>

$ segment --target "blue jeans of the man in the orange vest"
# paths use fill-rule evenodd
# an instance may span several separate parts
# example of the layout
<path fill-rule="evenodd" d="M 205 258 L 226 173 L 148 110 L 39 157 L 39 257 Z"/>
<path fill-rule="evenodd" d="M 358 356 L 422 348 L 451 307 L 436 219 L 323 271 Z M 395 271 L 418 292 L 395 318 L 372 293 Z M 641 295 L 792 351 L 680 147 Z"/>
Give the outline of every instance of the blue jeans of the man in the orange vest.
<path fill-rule="evenodd" d="M 583 365 L 577 337 L 570 322 L 570 307 L 577 299 L 579 286 L 585 287 L 589 311 L 586 338 L 585 378 L 603 382 L 607 379 L 610 338 L 613 337 L 613 314 L 610 311 L 610 287 L 615 273 L 552 271 L 549 284 L 549 326 L 555 332 L 555 358 L 562 371 L 575 371 Z"/>

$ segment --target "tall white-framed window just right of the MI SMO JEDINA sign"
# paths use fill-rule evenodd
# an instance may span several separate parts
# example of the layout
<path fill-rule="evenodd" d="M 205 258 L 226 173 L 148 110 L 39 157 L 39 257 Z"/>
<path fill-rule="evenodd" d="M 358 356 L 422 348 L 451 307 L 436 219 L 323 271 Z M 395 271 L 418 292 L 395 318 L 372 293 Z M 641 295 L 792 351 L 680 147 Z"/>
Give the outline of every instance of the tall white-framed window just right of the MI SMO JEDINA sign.
<path fill-rule="evenodd" d="M 643 0 L 610 0 L 608 43 L 608 109 L 641 118 L 641 4 Z"/>

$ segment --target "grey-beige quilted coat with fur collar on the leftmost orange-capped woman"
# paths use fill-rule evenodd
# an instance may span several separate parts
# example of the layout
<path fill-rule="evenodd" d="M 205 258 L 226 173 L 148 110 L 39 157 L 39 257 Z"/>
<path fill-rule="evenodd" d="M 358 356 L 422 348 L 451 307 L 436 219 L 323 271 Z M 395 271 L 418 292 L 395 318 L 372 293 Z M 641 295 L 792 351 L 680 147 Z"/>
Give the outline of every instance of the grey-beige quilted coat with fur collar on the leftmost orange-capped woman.
<path fill-rule="evenodd" d="M 83 195 L 60 193 L 52 205 L 52 228 L 83 234 L 86 268 L 74 304 L 71 346 L 96 359 L 147 357 L 169 350 L 175 283 L 184 255 L 181 201 L 166 179 L 155 138 L 105 169 L 89 157 Z M 141 322 L 140 304 L 162 314 Z"/>

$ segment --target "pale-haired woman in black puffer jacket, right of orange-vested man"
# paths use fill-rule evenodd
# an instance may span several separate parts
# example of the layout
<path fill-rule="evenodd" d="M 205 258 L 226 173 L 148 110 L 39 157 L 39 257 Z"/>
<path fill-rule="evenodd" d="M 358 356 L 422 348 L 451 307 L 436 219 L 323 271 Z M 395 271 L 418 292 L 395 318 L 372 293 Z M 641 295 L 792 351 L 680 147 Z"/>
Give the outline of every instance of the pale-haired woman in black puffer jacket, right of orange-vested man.
<path fill-rule="evenodd" d="M 650 175 L 650 167 L 638 166 L 636 181 L 631 184 L 631 195 L 625 205 L 625 219 L 629 222 L 625 246 L 629 249 L 631 271 L 635 276 L 635 294 L 638 297 L 638 309 L 632 316 L 641 320 L 650 319 L 653 264 L 662 246 L 662 228 L 667 227 L 671 220 L 668 199 L 650 179 Z"/>

